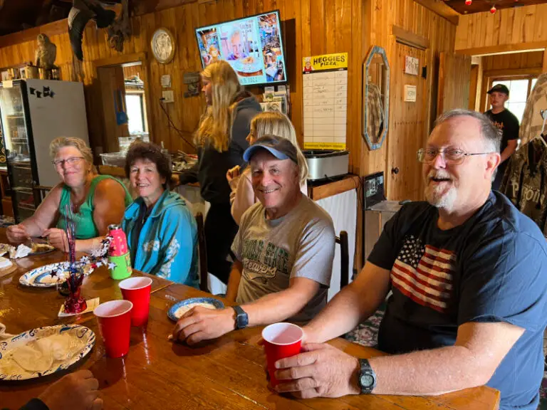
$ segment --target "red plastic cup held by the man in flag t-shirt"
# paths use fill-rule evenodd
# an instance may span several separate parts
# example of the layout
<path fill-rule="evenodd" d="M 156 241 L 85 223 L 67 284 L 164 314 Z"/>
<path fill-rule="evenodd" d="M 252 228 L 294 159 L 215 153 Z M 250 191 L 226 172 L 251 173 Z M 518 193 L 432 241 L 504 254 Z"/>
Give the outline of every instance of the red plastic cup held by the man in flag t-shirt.
<path fill-rule="evenodd" d="M 274 323 L 262 330 L 268 373 L 273 387 L 279 384 L 275 376 L 276 362 L 300 353 L 303 335 L 301 327 L 292 323 Z"/>

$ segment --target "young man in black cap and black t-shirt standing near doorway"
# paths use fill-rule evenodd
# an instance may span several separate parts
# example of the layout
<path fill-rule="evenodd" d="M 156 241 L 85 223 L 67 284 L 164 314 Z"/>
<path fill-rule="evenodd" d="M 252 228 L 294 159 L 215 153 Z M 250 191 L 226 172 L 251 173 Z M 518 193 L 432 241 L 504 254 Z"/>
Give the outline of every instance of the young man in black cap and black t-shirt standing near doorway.
<path fill-rule="evenodd" d="M 492 189 L 499 189 L 501 180 L 504 178 L 505 169 L 509 164 L 509 157 L 516 151 L 519 141 L 519 120 L 515 115 L 506 109 L 505 102 L 509 100 L 509 88 L 503 84 L 496 84 L 488 94 L 490 95 L 491 110 L 486 111 L 487 117 L 502 132 L 501 137 L 501 162 L 492 183 Z"/>

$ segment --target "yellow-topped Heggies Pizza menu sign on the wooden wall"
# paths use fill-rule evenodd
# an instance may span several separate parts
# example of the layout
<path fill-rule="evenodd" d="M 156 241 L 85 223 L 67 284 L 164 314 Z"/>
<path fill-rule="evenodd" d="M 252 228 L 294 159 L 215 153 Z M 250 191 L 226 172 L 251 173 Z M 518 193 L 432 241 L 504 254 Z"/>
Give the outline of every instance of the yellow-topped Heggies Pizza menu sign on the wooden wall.
<path fill-rule="evenodd" d="M 348 53 L 303 58 L 304 149 L 345 149 Z"/>

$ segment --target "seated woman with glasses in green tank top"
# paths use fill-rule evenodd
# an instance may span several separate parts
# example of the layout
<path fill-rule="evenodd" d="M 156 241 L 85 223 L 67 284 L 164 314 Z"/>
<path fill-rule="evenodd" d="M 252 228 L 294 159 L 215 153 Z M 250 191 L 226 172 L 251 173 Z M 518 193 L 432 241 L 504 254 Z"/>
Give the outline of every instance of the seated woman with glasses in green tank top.
<path fill-rule="evenodd" d="M 76 250 L 93 251 L 108 233 L 108 225 L 120 224 L 131 196 L 118 179 L 96 173 L 93 154 L 83 140 L 59 137 L 49 149 L 61 183 L 49 192 L 33 216 L 7 229 L 9 241 L 21 243 L 29 236 L 48 236 L 51 245 L 68 252 L 64 229 L 67 213 L 71 212 Z"/>

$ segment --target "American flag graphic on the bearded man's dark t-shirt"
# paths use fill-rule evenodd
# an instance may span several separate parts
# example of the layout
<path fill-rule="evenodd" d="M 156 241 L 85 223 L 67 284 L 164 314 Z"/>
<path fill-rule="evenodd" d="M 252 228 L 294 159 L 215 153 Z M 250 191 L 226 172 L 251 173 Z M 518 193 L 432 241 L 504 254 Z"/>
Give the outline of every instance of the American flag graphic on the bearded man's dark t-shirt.
<path fill-rule="evenodd" d="M 415 303 L 446 312 L 455 261 L 454 253 L 407 236 L 391 270 L 392 284 Z"/>

